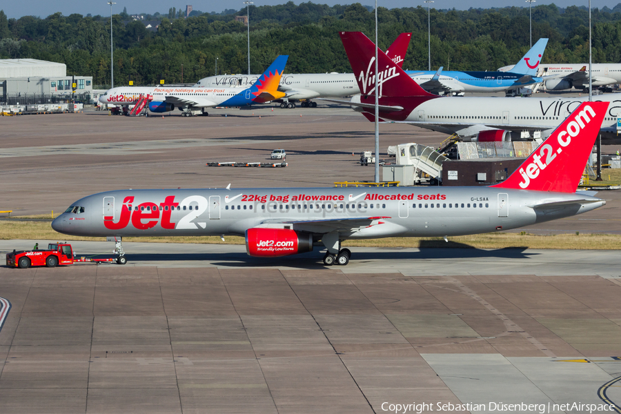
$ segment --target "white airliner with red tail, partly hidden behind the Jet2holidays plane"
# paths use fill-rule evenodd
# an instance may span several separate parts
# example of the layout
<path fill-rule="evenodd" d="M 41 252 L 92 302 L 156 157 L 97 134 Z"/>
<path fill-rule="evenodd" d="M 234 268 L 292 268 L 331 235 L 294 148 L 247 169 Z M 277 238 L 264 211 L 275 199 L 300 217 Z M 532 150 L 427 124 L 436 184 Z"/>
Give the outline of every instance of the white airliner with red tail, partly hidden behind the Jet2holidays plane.
<path fill-rule="evenodd" d="M 388 47 L 386 55 L 399 67 L 403 65 L 411 33 L 402 33 Z M 199 80 L 195 87 L 222 88 L 236 86 L 247 88 L 253 85 L 259 75 L 219 75 Z M 302 108 L 316 108 L 314 98 L 348 97 L 360 93 L 353 73 L 302 73 L 283 75 L 279 91 L 285 92 L 282 99 L 278 99 L 281 108 L 295 108 L 295 101 L 302 101 Z"/>

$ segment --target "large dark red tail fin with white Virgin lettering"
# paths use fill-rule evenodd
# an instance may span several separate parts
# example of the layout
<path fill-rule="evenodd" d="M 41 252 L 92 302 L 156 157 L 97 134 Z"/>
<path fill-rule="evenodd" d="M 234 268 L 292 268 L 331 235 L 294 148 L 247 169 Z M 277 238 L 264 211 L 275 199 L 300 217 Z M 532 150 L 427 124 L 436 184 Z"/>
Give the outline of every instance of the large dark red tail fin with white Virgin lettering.
<path fill-rule="evenodd" d="M 362 32 L 340 32 L 362 95 L 375 95 L 375 44 Z M 426 92 L 382 50 L 377 50 L 379 97 L 437 97 Z"/>

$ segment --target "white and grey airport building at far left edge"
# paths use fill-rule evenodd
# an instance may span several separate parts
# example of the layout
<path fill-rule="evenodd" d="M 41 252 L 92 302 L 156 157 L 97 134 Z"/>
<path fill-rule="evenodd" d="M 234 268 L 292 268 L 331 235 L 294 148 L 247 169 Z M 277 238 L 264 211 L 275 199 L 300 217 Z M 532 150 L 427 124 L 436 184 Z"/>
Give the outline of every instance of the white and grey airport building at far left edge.
<path fill-rule="evenodd" d="M 67 76 L 64 63 L 37 59 L 0 59 L 0 105 L 57 103 L 72 99 L 72 79 L 77 83 L 76 101 L 92 101 L 92 77 Z"/>

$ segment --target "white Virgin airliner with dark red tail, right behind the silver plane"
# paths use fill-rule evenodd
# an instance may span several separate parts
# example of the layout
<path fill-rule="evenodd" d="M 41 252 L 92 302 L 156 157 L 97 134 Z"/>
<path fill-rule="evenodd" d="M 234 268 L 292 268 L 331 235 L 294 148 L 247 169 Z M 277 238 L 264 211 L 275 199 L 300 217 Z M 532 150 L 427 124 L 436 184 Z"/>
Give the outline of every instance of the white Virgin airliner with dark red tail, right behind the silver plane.
<path fill-rule="evenodd" d="M 341 32 L 341 40 L 356 74 L 362 95 L 348 103 L 375 121 L 375 45 L 361 32 Z M 547 137 L 569 116 L 582 98 L 508 98 L 508 97 L 440 97 L 422 89 L 406 72 L 377 50 L 380 70 L 380 120 L 403 122 L 472 141 L 515 141 L 522 133 L 541 132 Z M 610 102 L 603 124 L 602 144 L 618 143 L 617 117 L 621 114 L 621 97 L 601 95 L 598 101 Z"/>

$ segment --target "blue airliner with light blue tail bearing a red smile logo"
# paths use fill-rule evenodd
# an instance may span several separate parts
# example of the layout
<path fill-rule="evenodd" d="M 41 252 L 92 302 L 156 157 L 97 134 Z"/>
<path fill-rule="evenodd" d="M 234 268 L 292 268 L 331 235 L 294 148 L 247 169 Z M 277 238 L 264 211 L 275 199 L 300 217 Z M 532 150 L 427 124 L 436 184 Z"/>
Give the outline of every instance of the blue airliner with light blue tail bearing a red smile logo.
<path fill-rule="evenodd" d="M 511 72 L 442 72 L 406 70 L 405 72 L 427 92 L 435 94 L 460 92 L 515 91 L 524 86 L 540 83 L 537 77 L 548 39 L 539 39 L 535 46 L 520 59 Z"/>

